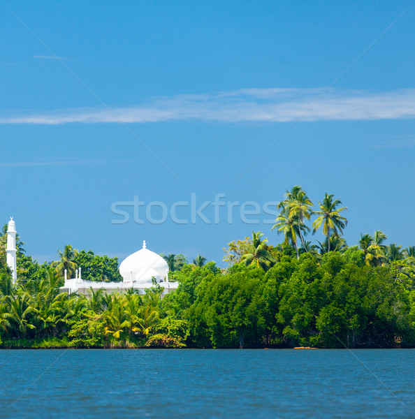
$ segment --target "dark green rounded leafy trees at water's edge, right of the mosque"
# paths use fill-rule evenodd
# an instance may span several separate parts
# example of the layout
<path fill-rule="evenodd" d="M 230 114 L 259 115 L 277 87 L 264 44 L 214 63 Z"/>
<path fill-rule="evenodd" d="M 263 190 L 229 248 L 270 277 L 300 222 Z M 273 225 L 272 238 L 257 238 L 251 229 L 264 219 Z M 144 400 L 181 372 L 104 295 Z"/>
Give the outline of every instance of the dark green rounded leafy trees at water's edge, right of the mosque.
<path fill-rule="evenodd" d="M 195 346 L 384 348 L 415 343 L 413 287 L 394 265 L 367 266 L 349 249 L 283 256 L 268 272 L 196 268 L 166 300 Z"/>

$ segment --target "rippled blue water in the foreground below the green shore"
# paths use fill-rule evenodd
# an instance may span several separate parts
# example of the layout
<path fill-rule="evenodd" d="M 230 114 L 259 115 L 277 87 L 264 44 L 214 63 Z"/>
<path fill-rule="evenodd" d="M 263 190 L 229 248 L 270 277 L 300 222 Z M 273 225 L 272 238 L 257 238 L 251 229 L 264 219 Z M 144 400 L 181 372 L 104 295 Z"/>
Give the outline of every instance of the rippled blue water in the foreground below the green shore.
<path fill-rule="evenodd" d="M 415 418 L 415 350 L 3 350 L 1 418 Z"/>

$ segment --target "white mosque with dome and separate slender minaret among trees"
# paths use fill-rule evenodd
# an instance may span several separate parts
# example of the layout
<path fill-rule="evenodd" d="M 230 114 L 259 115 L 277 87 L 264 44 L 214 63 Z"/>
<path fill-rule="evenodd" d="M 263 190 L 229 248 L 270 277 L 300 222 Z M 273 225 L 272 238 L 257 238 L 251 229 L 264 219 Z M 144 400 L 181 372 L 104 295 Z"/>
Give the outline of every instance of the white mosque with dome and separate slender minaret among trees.
<path fill-rule="evenodd" d="M 13 275 L 13 281 L 17 279 L 16 270 L 16 228 L 15 221 L 10 218 L 7 230 L 7 265 Z M 75 278 L 68 279 L 65 271 L 65 283 L 60 289 L 67 293 L 82 293 L 88 295 L 91 288 L 96 291 L 104 289 L 108 293 L 125 292 L 129 288 L 134 288 L 140 293 L 145 293 L 146 288 L 153 286 L 153 280 L 164 288 L 163 295 L 174 291 L 178 283 L 168 281 L 168 264 L 161 256 L 154 251 L 147 249 L 145 241 L 143 249 L 136 251 L 125 258 L 119 265 L 119 273 L 122 282 L 98 282 L 86 281 L 82 279 L 82 267 L 75 271 Z"/>

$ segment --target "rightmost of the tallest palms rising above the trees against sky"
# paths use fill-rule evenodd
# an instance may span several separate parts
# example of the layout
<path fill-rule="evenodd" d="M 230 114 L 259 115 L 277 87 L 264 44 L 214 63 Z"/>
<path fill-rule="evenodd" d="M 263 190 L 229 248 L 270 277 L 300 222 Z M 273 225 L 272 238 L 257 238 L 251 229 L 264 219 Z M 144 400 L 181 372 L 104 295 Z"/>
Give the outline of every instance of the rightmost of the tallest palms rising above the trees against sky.
<path fill-rule="evenodd" d="M 338 235 L 339 232 L 343 233 L 343 228 L 347 226 L 347 219 L 340 215 L 340 212 L 347 210 L 347 207 L 337 208 L 342 201 L 340 199 L 333 200 L 333 196 L 333 193 L 328 195 L 326 192 L 323 203 L 319 202 L 320 210 L 316 211 L 318 217 L 313 223 L 313 233 L 323 226 L 323 235 L 328 238 L 328 251 L 330 251 L 330 230 Z"/>

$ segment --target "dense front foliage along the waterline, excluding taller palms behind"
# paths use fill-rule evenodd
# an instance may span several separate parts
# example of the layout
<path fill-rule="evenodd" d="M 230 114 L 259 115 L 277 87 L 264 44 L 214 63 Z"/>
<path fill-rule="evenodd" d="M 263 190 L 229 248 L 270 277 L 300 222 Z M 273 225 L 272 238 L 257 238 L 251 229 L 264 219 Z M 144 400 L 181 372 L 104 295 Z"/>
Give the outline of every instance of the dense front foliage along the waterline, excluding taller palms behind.
<path fill-rule="evenodd" d="M 59 293 L 61 277 L 13 286 L 0 275 L 3 347 L 393 348 L 415 344 L 415 291 L 400 265 L 372 267 L 361 249 L 282 256 L 268 271 L 185 265 L 161 298 Z"/>

